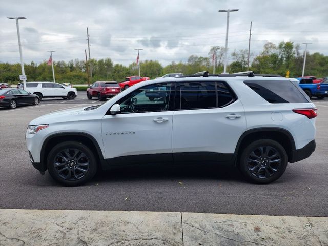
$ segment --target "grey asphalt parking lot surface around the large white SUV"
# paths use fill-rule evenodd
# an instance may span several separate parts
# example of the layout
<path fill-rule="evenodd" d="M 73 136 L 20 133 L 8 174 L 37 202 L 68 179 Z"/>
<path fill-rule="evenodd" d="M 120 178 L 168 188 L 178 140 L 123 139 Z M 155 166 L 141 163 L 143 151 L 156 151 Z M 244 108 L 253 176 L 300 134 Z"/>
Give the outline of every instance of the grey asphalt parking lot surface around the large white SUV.
<path fill-rule="evenodd" d="M 98 174 L 81 187 L 63 187 L 29 161 L 30 120 L 58 110 L 102 103 L 79 92 L 74 100 L 44 99 L 38 106 L 0 108 L 0 208 L 174 211 L 328 216 L 328 98 L 318 108 L 317 149 L 290 164 L 269 185 L 245 182 L 229 166 L 135 167 Z"/>

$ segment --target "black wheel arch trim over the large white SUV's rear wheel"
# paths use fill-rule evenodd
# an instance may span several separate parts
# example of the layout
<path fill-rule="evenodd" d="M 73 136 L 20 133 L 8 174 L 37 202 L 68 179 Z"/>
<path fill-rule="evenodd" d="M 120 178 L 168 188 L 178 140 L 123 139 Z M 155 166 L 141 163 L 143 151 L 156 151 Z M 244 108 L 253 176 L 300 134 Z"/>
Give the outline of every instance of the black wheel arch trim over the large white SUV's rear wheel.
<path fill-rule="evenodd" d="M 277 127 L 262 127 L 245 131 L 240 136 L 236 145 L 236 149 L 234 152 L 237 155 L 236 160 L 238 160 L 238 158 L 240 157 L 241 151 L 243 150 L 244 146 L 258 139 L 272 139 L 279 142 L 279 144 L 281 144 L 286 150 L 286 153 L 288 155 L 288 161 L 292 162 L 293 151 L 295 151 L 296 149 L 294 138 L 289 131 Z"/>

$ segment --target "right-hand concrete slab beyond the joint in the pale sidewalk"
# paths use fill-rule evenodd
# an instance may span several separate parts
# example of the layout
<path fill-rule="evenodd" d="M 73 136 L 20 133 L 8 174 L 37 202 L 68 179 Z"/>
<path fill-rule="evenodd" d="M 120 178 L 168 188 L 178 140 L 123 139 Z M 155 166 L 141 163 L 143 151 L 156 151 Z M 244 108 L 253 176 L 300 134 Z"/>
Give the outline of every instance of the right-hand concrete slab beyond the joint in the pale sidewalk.
<path fill-rule="evenodd" d="M 328 218 L 182 213 L 185 245 L 328 245 Z"/>

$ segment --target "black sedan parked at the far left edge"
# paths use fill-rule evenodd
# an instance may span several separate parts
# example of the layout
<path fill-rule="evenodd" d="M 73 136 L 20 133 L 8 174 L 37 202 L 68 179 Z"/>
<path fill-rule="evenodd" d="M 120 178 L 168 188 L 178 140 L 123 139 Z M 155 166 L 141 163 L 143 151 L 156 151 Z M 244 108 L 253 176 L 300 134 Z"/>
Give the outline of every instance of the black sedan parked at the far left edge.
<path fill-rule="evenodd" d="M 0 107 L 15 109 L 18 105 L 39 104 L 39 97 L 22 89 L 0 89 Z"/>

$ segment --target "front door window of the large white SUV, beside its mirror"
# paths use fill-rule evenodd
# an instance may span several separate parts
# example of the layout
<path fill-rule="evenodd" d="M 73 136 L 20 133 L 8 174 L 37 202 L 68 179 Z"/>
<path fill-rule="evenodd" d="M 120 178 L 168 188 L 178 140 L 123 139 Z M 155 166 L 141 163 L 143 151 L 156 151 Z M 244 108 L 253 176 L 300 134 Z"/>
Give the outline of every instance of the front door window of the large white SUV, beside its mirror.
<path fill-rule="evenodd" d="M 139 88 L 117 101 L 121 113 L 141 113 L 169 110 L 171 83 Z"/>

